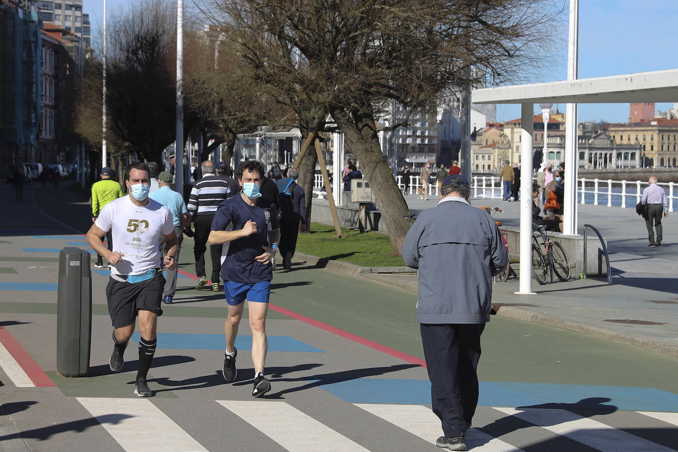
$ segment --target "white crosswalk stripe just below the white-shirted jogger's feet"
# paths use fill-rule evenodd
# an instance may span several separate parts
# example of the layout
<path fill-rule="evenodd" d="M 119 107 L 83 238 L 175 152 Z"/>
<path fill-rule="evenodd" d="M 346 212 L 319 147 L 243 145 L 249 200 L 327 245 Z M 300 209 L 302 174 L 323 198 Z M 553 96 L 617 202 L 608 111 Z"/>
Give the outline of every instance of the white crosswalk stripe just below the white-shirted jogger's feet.
<path fill-rule="evenodd" d="M 144 398 L 77 397 L 125 451 L 207 451 Z"/>

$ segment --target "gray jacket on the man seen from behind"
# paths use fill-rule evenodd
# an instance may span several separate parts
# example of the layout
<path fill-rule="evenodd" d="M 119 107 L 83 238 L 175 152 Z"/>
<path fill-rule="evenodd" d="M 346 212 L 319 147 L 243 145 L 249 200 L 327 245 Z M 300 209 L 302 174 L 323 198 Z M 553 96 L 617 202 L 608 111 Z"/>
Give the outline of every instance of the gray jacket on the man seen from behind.
<path fill-rule="evenodd" d="M 402 248 L 419 269 L 419 323 L 490 321 L 492 276 L 509 253 L 492 217 L 459 197 L 445 197 L 419 215 Z"/>

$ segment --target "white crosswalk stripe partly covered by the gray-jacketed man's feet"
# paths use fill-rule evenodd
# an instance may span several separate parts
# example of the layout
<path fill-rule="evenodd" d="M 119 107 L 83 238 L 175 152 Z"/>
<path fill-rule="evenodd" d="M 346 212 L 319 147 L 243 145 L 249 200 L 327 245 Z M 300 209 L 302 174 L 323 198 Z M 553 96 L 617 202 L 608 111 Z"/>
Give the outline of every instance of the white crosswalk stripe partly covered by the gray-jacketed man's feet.
<path fill-rule="evenodd" d="M 382 403 L 354 403 L 381 417 L 387 422 L 403 430 L 435 444 L 435 440 L 442 436 L 440 419 L 433 414 L 430 408 L 423 405 L 388 405 Z M 475 428 L 466 431 L 466 447 L 474 452 L 523 452 L 504 441 L 494 438 Z"/>

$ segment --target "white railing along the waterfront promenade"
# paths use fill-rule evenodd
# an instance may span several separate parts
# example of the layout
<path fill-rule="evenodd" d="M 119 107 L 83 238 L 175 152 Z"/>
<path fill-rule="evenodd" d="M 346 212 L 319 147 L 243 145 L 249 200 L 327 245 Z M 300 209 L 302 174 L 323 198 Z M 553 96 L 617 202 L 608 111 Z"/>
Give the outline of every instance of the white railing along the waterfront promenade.
<path fill-rule="evenodd" d="M 536 180 L 536 178 L 533 178 Z M 403 176 L 397 176 L 396 182 L 401 190 L 405 190 Z M 669 200 L 669 211 L 673 212 L 673 201 L 677 199 L 675 183 L 658 183 L 666 190 L 666 198 Z M 314 192 L 323 186 L 323 176 L 315 175 L 313 183 Z M 422 186 L 419 176 L 410 176 L 408 194 L 416 194 Z M 631 207 L 640 201 L 643 189 L 647 182 L 640 180 L 610 180 L 610 179 L 586 179 L 577 181 L 577 202 L 580 204 L 607 205 L 608 207 Z M 501 198 L 501 178 L 496 176 L 474 176 L 471 178 L 471 194 L 474 198 Z M 429 197 L 438 196 L 438 186 L 435 182 L 428 184 Z"/>

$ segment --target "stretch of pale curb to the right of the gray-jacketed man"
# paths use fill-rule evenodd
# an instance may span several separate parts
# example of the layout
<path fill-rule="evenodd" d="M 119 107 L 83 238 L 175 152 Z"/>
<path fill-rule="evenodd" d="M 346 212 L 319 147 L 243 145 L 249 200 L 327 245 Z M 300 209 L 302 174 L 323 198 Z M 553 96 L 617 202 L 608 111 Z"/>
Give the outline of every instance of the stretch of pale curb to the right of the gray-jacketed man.
<path fill-rule="evenodd" d="M 549 314 L 530 312 L 526 309 L 517 308 L 515 306 L 502 306 L 497 310 L 496 315 L 507 317 L 509 319 L 539 323 L 540 325 L 576 331 L 577 333 L 596 337 L 597 339 L 616 342 L 617 344 L 624 344 L 635 348 L 641 348 L 649 352 L 655 352 L 658 354 L 664 354 L 678 358 L 678 346 L 666 344 L 660 340 L 652 339 L 651 337 L 645 337 L 631 333 L 620 333 L 619 331 L 614 331 L 613 329 L 597 327 L 588 323 L 578 323 L 567 319 L 561 319 L 560 317 Z"/>

